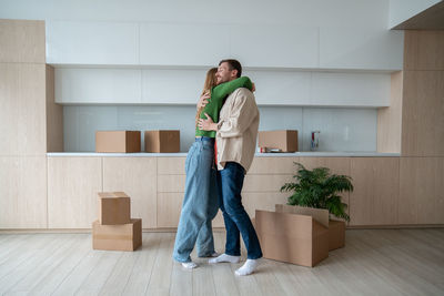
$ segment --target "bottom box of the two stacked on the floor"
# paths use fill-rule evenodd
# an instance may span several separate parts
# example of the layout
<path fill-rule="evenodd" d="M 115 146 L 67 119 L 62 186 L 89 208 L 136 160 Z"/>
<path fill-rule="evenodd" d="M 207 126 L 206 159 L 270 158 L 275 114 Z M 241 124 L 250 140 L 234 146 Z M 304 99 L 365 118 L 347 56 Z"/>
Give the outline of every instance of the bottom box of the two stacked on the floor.
<path fill-rule="evenodd" d="M 107 251 L 134 251 L 142 245 L 142 220 L 128 224 L 101 225 L 92 223 L 92 248 Z"/>

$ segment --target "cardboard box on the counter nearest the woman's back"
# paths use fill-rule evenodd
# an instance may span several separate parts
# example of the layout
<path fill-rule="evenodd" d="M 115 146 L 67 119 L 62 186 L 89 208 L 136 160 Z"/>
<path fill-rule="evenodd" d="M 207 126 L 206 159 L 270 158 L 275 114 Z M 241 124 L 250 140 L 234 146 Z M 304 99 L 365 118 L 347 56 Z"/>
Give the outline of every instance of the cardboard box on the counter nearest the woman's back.
<path fill-rule="evenodd" d="M 180 152 L 180 131 L 145 131 L 145 152 Z"/>

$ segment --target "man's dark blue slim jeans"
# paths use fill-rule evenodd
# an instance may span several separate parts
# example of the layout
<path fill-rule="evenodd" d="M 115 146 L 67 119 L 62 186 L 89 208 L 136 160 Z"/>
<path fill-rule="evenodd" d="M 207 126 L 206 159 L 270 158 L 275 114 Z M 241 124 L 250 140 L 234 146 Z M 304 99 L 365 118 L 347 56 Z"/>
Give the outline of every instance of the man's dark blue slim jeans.
<path fill-rule="evenodd" d="M 242 205 L 242 186 L 245 177 L 242 165 L 235 162 L 225 163 L 225 167 L 218 172 L 219 204 L 223 213 L 226 228 L 225 254 L 241 255 L 241 238 L 246 247 L 249 259 L 262 257 L 261 245 L 249 214 Z"/>

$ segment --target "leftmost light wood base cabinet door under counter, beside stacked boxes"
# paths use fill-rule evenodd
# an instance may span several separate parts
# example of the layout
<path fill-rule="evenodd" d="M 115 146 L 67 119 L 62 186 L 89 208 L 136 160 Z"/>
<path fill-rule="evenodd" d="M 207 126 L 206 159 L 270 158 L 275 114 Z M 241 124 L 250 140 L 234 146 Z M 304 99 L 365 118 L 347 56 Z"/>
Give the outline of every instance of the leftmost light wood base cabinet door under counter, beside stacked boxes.
<path fill-rule="evenodd" d="M 91 228 L 102 192 L 101 157 L 48 157 L 49 228 Z"/>

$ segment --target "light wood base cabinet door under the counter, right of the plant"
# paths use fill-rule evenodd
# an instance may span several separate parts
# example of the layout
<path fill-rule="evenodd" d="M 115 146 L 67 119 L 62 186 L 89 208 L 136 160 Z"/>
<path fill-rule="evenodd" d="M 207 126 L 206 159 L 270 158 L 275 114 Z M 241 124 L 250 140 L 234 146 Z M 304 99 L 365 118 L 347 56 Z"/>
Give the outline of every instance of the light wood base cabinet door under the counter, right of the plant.
<path fill-rule="evenodd" d="M 398 157 L 352 157 L 350 225 L 397 224 Z"/>

